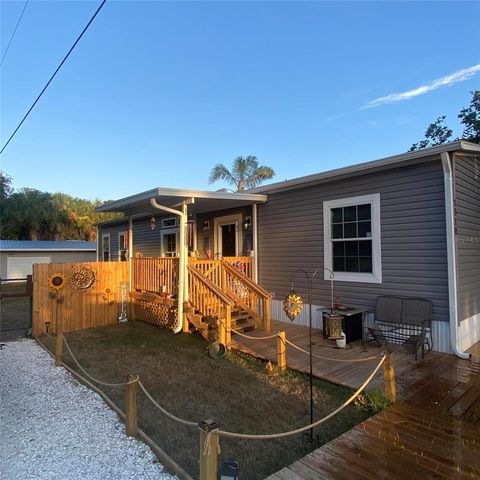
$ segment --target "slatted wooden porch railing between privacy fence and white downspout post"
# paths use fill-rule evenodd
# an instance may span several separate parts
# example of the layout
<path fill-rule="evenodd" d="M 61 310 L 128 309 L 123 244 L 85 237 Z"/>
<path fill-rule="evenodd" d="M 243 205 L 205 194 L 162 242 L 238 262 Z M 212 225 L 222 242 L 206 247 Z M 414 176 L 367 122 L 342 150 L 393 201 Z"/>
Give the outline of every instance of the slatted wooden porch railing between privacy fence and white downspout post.
<path fill-rule="evenodd" d="M 178 257 L 132 258 L 132 290 L 176 294 Z"/>

